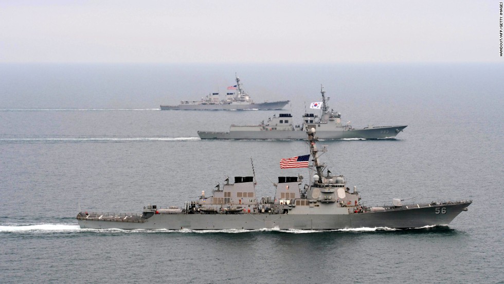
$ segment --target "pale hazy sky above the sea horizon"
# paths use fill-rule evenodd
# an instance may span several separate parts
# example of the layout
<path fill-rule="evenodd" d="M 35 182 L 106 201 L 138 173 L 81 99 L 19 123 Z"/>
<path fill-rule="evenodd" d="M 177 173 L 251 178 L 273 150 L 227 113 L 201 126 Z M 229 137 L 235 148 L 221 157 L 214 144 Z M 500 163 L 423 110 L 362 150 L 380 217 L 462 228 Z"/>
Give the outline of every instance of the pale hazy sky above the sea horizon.
<path fill-rule="evenodd" d="M 502 62 L 499 1 L 0 0 L 0 62 Z"/>

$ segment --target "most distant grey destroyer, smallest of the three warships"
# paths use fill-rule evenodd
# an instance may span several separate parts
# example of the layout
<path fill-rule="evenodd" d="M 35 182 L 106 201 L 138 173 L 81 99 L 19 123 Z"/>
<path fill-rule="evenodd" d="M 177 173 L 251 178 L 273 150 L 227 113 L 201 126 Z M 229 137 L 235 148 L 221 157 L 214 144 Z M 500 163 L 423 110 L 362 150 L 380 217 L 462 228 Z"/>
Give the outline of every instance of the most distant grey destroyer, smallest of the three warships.
<path fill-rule="evenodd" d="M 227 87 L 234 90 L 226 94 L 225 100 L 220 100 L 219 93 L 212 93 L 200 101 L 181 101 L 179 105 L 161 105 L 161 110 L 281 110 L 287 103 L 285 101 L 255 103 L 242 88 L 240 78 L 236 76 L 236 85 Z"/>

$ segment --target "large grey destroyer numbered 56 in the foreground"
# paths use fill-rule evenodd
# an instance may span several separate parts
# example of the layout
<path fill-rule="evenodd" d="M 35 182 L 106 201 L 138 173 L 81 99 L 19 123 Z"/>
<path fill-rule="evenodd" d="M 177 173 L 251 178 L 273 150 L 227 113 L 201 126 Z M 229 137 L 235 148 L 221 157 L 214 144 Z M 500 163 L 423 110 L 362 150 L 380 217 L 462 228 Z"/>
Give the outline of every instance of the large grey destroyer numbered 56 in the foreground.
<path fill-rule="evenodd" d="M 148 205 L 140 214 L 81 211 L 81 228 L 93 229 L 343 229 L 361 227 L 420 228 L 448 225 L 472 201 L 445 201 L 371 207 L 361 200 L 356 187 L 351 191 L 343 175 L 333 175 L 319 162 L 314 129 L 307 132 L 313 182 L 302 184 L 302 176 L 280 176 L 272 197 L 258 197 L 254 176 L 236 176 L 183 206 Z M 306 162 L 309 163 L 309 162 Z M 189 188 L 182 185 L 181 188 Z M 369 204 L 369 203 L 367 203 Z"/>

